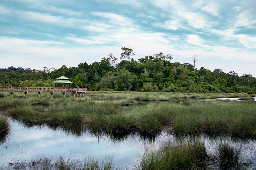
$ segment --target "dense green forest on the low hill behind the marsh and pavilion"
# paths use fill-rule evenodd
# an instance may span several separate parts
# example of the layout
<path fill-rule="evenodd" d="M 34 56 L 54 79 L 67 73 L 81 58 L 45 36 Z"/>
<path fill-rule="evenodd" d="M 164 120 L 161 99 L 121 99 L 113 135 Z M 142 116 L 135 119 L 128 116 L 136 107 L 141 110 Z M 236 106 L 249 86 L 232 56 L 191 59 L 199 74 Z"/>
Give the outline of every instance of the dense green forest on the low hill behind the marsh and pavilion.
<path fill-rule="evenodd" d="M 199 70 L 188 63 L 171 63 L 162 53 L 147 56 L 138 61 L 117 60 L 109 54 L 100 62 L 78 67 L 31 70 L 21 67 L 0 69 L 0 86 L 52 87 L 56 78 L 64 75 L 74 83 L 73 87 L 87 87 L 100 91 L 149 91 L 149 92 L 247 92 L 256 93 L 256 78 L 248 74 L 238 76 L 234 71 L 213 72 L 201 67 Z M 170 56 L 171 57 L 171 56 Z M 172 57 L 171 57 L 172 58 Z M 167 59 L 167 60 L 165 60 Z"/>

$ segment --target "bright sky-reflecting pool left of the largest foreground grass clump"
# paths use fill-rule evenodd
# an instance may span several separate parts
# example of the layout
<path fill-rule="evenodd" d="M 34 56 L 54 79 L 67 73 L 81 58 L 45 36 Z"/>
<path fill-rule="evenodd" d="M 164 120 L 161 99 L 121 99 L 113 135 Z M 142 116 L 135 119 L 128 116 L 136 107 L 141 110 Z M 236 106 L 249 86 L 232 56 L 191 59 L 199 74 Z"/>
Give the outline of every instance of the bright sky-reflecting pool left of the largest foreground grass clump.
<path fill-rule="evenodd" d="M 168 136 L 148 137 L 138 133 L 125 136 L 96 134 L 86 132 L 70 133 L 62 127 L 31 126 L 31 124 L 11 121 L 12 134 L 10 139 L 0 146 L 1 167 L 7 167 L 8 162 L 15 160 L 31 160 L 39 156 L 53 156 L 74 159 L 84 159 L 85 155 L 105 158 L 113 156 L 122 167 L 130 167 L 138 155 L 151 146 L 160 146 Z"/>

